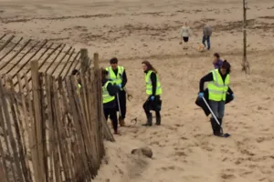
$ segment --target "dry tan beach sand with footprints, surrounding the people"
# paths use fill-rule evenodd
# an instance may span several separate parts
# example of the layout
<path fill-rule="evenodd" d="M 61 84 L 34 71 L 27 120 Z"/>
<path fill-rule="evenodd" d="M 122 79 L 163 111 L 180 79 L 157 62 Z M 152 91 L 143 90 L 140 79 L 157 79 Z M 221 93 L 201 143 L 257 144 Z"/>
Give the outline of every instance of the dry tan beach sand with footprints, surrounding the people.
<path fill-rule="evenodd" d="M 99 52 L 102 66 L 117 56 L 125 66 L 131 102 L 127 124 L 116 143 L 106 142 L 107 155 L 95 182 L 270 182 L 273 156 L 273 0 L 248 0 L 248 60 L 251 75 L 241 72 L 242 4 L 236 0 L 9 0 L 0 1 L 4 33 L 49 38 Z M 192 36 L 187 53 L 179 45 L 180 26 L 188 20 Z M 202 22 L 213 26 L 212 50 L 195 51 Z M 224 129 L 232 136 L 211 136 L 211 126 L 195 106 L 198 82 L 220 52 L 232 64 L 231 88 L 236 99 L 227 105 Z M 146 128 L 142 114 L 147 58 L 160 72 L 163 125 Z M 153 159 L 132 156 L 149 146 Z"/>

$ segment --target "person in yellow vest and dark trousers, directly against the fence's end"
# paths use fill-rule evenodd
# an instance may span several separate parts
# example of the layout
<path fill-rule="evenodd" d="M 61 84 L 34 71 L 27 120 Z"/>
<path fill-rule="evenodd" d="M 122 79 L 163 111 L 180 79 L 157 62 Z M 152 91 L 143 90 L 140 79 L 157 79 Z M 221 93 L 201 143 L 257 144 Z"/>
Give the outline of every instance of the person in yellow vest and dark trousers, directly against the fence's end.
<path fill-rule="evenodd" d="M 108 117 L 111 118 L 111 123 L 114 129 L 114 134 L 118 134 L 118 119 L 116 113 L 116 101 L 115 96 L 119 90 L 119 87 L 115 84 L 113 85 L 111 80 L 108 79 L 108 71 L 102 69 L 101 71 L 101 90 L 102 90 L 102 103 L 103 103 L 103 110 L 104 116 L 106 120 Z"/>

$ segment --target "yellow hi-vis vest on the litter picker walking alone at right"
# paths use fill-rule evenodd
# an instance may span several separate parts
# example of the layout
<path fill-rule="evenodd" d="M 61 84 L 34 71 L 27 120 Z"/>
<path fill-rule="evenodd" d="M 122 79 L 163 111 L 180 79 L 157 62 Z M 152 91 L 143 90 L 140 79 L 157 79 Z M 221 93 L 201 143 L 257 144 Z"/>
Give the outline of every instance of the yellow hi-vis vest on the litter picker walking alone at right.
<path fill-rule="evenodd" d="M 230 81 L 229 74 L 227 74 L 227 77 L 224 82 L 218 69 L 213 70 L 211 73 L 213 75 L 214 81 L 209 82 L 207 85 L 209 95 L 208 99 L 214 101 L 226 101 L 227 90 Z"/>

